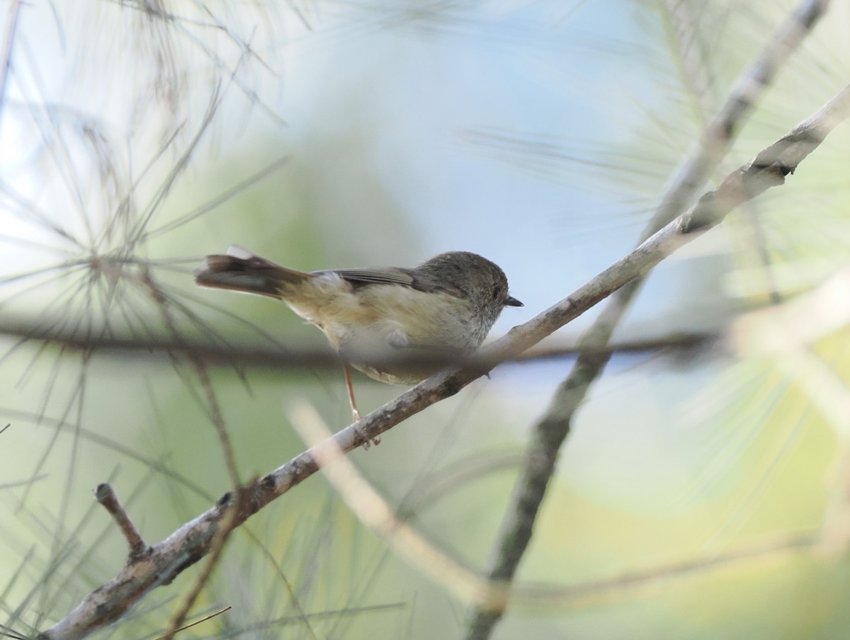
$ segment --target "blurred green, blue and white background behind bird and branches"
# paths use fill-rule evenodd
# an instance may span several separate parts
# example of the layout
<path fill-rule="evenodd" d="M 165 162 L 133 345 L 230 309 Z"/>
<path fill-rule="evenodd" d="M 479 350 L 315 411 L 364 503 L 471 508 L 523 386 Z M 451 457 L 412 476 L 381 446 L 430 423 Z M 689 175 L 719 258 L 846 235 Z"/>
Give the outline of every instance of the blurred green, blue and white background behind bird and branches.
<path fill-rule="evenodd" d="M 195 288 L 205 254 L 238 244 L 312 270 L 479 252 L 525 303 L 499 337 L 635 246 L 795 8 L 7 0 L 4 623 L 41 630 L 122 567 L 95 485 L 113 484 L 149 544 L 232 486 L 181 345 L 210 363 L 243 481 L 304 449 L 293 406 L 350 422 L 320 331 L 273 300 Z M 711 178 L 843 88 L 848 49 L 850 5 L 834 2 Z M 649 277 L 521 565 L 546 595 L 493 637 L 844 637 L 848 128 Z M 484 569 L 530 428 L 595 316 L 349 459 L 425 540 Z M 354 388 L 364 413 L 404 390 L 360 374 Z M 198 570 L 95 637 L 156 637 Z M 462 637 L 467 615 L 320 476 L 232 535 L 193 615 L 227 605 L 183 636 Z"/>

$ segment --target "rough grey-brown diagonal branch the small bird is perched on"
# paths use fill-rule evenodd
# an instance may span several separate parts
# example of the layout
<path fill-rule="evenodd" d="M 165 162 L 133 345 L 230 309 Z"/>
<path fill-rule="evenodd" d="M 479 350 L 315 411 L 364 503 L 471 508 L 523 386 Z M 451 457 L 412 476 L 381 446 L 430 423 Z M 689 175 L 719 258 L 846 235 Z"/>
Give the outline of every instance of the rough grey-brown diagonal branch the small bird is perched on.
<path fill-rule="evenodd" d="M 500 362 L 538 343 L 611 292 L 645 274 L 677 248 L 720 223 L 740 203 L 772 186 L 783 184 L 785 176 L 793 173 L 797 165 L 847 117 L 850 117 L 850 87 L 791 133 L 762 151 L 750 164 L 731 173 L 717 189 L 703 195 L 688 212 L 667 224 L 625 258 L 612 264 L 569 297 L 482 349 L 479 358 L 471 365 L 450 367 L 439 372 L 377 411 L 372 411 L 357 424 L 336 433 L 333 440 L 337 447 L 346 452 L 354 450 L 405 418 L 456 394 Z M 147 592 L 170 583 L 210 552 L 222 526 L 228 530 L 239 526 L 318 470 L 311 448 L 262 478 L 224 494 L 214 507 L 181 526 L 165 541 L 150 547 L 144 557 L 128 559 L 114 579 L 90 593 L 63 620 L 40 633 L 37 640 L 76 640 L 119 620 Z M 481 602 L 486 605 L 491 605 L 492 599 L 489 591 L 481 596 Z"/>

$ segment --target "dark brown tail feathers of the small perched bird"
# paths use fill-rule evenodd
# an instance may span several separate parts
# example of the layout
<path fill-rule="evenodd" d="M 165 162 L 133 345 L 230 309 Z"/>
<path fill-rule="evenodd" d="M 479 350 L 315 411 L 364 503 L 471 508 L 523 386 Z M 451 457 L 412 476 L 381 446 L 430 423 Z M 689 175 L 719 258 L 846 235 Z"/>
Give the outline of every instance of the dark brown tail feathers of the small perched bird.
<path fill-rule="evenodd" d="M 255 256 L 241 246 L 229 246 L 226 255 L 207 256 L 207 268 L 195 270 L 195 284 L 214 289 L 281 297 L 290 286 L 302 284 L 313 275 L 286 269 Z"/>

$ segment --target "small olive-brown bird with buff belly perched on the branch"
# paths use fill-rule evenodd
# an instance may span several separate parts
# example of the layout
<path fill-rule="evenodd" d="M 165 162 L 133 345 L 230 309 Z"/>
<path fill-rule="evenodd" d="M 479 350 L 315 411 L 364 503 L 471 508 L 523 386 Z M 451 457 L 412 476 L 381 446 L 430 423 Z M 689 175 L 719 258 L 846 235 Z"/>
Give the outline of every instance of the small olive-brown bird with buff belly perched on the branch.
<path fill-rule="evenodd" d="M 522 307 L 505 273 L 471 252 L 447 252 L 413 269 L 287 269 L 241 246 L 207 256 L 195 283 L 283 300 L 324 331 L 345 363 L 381 382 L 414 384 L 481 346 L 505 307 Z"/>

